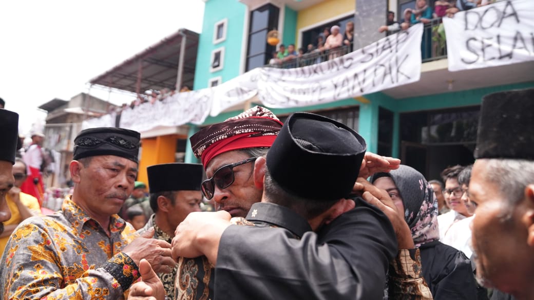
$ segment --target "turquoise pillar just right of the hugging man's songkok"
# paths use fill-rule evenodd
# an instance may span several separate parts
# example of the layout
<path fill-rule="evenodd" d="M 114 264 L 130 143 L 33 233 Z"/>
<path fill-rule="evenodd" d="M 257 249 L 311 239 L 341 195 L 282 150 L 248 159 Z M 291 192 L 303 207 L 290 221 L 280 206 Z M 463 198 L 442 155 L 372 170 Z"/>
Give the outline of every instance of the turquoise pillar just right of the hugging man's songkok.
<path fill-rule="evenodd" d="M 360 105 L 358 133 L 367 143 L 367 151 L 376 153 L 378 151 L 378 112 L 377 101 L 372 100 Z"/>

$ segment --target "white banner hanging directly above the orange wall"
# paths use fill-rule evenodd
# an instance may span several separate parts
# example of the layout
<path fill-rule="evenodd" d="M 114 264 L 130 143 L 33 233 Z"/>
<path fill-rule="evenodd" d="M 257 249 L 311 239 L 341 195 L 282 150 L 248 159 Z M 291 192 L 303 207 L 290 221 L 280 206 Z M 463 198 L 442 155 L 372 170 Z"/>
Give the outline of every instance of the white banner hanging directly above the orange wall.
<path fill-rule="evenodd" d="M 147 102 L 124 109 L 120 127 L 143 132 L 158 126 L 202 124 L 210 112 L 212 99 L 212 89 L 176 93 L 154 104 Z"/>

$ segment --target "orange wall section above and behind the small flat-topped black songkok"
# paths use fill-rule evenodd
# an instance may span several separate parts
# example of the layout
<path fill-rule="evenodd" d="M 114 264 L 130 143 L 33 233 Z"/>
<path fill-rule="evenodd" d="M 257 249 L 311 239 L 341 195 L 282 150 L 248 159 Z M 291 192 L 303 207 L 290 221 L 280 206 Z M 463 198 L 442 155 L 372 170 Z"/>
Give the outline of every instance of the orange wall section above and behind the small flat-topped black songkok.
<path fill-rule="evenodd" d="M 158 136 L 141 139 L 141 158 L 137 180 L 148 185 L 146 168 L 153 164 L 175 162 L 176 135 Z"/>

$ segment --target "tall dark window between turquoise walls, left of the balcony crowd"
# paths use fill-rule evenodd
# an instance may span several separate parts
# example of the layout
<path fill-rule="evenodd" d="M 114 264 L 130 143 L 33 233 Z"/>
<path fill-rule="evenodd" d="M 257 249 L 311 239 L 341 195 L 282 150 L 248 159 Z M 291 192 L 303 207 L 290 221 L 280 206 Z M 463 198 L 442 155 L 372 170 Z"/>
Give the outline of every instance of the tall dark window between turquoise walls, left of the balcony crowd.
<path fill-rule="evenodd" d="M 267 44 L 267 33 L 277 29 L 280 9 L 266 4 L 250 12 L 246 70 L 268 64 L 276 46 Z"/>

